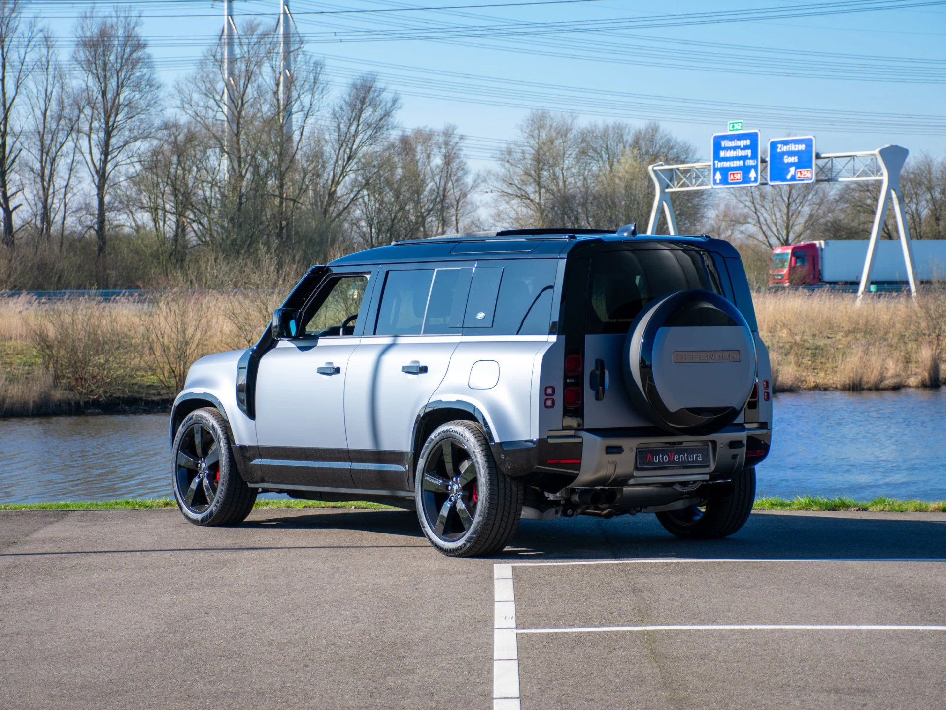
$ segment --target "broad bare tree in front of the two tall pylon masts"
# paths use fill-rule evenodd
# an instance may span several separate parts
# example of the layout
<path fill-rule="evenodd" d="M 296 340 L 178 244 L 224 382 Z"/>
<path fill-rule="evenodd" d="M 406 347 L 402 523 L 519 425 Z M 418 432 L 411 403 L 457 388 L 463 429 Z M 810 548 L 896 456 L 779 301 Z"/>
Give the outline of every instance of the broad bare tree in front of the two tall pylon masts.
<path fill-rule="evenodd" d="M 201 216 L 198 238 L 216 251 L 246 254 L 273 240 L 292 241 L 296 212 L 312 194 L 316 119 L 324 99 L 322 62 L 304 54 L 298 41 L 292 45 L 291 100 L 284 107 L 275 39 L 272 28 L 247 23 L 236 38 L 228 85 L 219 45 L 180 84 L 184 115 L 212 140 L 208 161 L 213 156 L 226 166 L 204 170 L 211 182 L 195 204 Z M 304 225 L 300 236 L 306 232 Z"/>

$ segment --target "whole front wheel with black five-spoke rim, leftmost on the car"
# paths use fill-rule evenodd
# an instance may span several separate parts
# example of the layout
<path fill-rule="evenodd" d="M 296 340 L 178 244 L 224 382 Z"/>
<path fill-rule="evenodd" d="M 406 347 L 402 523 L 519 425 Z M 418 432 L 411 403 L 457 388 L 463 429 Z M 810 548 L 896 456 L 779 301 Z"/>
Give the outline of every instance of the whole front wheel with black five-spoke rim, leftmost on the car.
<path fill-rule="evenodd" d="M 236 470 L 232 442 L 226 419 L 209 407 L 184 417 L 174 436 L 174 499 L 195 525 L 242 523 L 253 510 L 256 489 Z"/>

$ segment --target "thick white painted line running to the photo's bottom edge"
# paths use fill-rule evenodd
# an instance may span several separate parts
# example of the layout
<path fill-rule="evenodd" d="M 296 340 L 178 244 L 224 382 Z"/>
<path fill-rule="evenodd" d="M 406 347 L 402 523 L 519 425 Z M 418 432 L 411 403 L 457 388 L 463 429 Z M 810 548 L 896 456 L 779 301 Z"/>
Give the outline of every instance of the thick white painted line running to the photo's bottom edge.
<path fill-rule="evenodd" d="M 513 566 L 493 565 L 493 710 L 520 710 Z"/>

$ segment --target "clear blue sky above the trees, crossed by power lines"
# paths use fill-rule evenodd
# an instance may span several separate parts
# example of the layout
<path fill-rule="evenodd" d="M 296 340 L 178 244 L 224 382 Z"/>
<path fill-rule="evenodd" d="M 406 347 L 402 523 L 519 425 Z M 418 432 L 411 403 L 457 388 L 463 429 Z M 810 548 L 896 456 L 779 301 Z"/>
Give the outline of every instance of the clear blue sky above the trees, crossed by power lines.
<path fill-rule="evenodd" d="M 290 5 L 306 50 L 324 57 L 327 80 L 342 84 L 361 72 L 377 72 L 400 94 L 405 127 L 456 124 L 470 136 L 468 152 L 477 168 L 515 137 L 517 123 L 532 108 L 574 113 L 582 121 L 657 120 L 690 141 L 702 158 L 709 157 L 710 135 L 725 131 L 729 119 L 760 129 L 763 141 L 814 134 L 821 152 L 896 143 L 913 152 L 946 153 L 946 2 L 916 7 L 922 0 L 820 0 L 804 6 L 799 0 L 591 0 L 337 13 L 498 2 Z M 90 5 L 33 2 L 26 10 L 66 40 L 74 18 Z M 97 3 L 99 9 L 111 5 Z M 219 34 L 219 1 L 124 5 L 143 13 L 144 34 L 168 90 Z M 804 9 L 877 5 L 896 7 L 797 16 Z M 278 8 L 278 0 L 235 3 L 237 15 L 262 22 L 275 23 Z M 336 13 L 319 14 L 325 10 Z M 728 21 L 746 11 L 758 17 L 760 10 L 789 16 Z M 680 24 L 685 15 L 705 12 L 718 12 L 716 19 L 727 22 Z M 576 22 L 586 23 L 582 31 L 550 31 L 574 30 Z"/>

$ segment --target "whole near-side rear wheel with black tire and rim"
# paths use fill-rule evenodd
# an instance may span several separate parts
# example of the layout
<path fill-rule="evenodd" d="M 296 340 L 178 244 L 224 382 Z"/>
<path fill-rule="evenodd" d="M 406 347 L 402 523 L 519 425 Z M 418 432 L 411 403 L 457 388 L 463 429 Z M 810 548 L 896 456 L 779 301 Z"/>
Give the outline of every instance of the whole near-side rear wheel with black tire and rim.
<path fill-rule="evenodd" d="M 448 421 L 429 436 L 414 494 L 421 529 L 450 557 L 498 553 L 522 514 L 522 484 L 497 468 L 482 429 L 470 421 Z"/>

